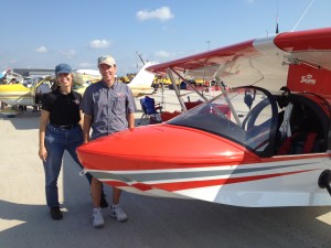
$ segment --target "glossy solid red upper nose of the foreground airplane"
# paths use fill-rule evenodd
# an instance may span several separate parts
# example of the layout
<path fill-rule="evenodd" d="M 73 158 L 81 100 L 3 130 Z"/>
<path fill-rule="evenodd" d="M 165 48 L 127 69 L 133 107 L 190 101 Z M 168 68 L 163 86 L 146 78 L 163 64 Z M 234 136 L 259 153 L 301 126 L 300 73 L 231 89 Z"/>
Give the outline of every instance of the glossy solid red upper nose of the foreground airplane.
<path fill-rule="evenodd" d="M 162 123 L 99 138 L 77 154 L 89 170 L 154 170 L 241 161 L 244 151 L 222 137 Z"/>

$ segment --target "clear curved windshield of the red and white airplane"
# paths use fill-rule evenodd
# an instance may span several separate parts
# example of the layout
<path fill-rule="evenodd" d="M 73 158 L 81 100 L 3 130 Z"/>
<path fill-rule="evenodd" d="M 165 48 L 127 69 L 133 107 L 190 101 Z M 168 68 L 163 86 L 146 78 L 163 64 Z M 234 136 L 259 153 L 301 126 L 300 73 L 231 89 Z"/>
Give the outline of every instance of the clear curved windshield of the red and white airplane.
<path fill-rule="evenodd" d="M 255 87 L 237 88 L 185 111 L 168 123 L 225 137 L 259 154 L 269 145 L 271 127 L 277 118 L 273 116 L 269 98 Z"/>

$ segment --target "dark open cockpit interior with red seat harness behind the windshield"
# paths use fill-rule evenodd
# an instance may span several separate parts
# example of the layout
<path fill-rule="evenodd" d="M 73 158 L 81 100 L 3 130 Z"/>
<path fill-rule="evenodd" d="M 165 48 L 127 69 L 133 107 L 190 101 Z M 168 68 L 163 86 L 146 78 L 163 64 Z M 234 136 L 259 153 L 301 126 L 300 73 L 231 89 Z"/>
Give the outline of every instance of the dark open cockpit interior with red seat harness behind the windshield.
<path fill-rule="evenodd" d="M 314 94 L 289 94 L 280 120 L 282 122 L 276 140 L 277 155 L 328 150 L 330 105 L 322 97 Z"/>

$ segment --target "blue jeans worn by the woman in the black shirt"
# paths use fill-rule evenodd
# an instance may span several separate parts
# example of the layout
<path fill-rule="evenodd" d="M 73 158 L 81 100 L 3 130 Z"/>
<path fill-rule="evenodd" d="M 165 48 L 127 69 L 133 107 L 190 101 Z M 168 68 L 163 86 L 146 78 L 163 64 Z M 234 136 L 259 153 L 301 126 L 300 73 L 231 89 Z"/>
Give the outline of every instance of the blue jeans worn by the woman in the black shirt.
<path fill-rule="evenodd" d="M 47 159 L 44 162 L 45 170 L 45 192 L 46 203 L 49 207 L 60 206 L 57 179 L 62 166 L 64 150 L 67 150 L 73 160 L 81 166 L 76 149 L 83 143 L 83 130 L 81 126 L 70 130 L 61 130 L 52 125 L 47 125 L 45 132 L 45 148 L 47 150 Z M 86 174 L 88 182 L 92 175 Z"/>

